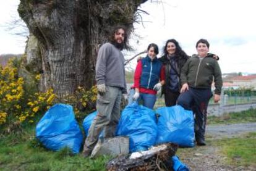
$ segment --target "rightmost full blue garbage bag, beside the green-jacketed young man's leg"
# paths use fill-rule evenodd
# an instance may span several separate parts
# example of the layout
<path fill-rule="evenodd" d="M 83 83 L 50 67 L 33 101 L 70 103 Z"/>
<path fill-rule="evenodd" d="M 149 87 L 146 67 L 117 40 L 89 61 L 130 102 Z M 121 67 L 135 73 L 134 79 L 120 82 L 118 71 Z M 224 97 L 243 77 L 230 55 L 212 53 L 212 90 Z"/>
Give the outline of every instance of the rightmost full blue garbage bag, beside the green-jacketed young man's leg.
<path fill-rule="evenodd" d="M 156 109 L 158 118 L 157 143 L 177 143 L 183 147 L 194 147 L 194 116 L 182 106 Z"/>

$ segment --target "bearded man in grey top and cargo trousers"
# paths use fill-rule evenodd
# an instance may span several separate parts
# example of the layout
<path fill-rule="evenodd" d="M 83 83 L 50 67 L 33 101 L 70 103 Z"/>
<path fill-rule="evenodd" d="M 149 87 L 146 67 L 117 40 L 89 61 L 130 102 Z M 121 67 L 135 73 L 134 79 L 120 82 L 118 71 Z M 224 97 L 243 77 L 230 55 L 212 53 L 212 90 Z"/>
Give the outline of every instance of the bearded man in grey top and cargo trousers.
<path fill-rule="evenodd" d="M 113 29 L 109 43 L 103 44 L 96 60 L 96 86 L 98 89 L 96 109 L 98 111 L 83 146 L 83 156 L 88 157 L 98 141 L 100 132 L 105 137 L 113 137 L 121 111 L 121 99 L 127 97 L 124 77 L 124 56 L 127 48 L 126 29 L 117 26 Z"/>

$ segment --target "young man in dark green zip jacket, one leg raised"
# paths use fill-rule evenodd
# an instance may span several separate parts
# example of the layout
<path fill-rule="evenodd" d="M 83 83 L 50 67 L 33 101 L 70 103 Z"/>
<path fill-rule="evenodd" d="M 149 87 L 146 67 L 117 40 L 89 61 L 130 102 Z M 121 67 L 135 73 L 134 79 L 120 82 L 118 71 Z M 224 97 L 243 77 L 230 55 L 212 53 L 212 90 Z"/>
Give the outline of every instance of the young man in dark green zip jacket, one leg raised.
<path fill-rule="evenodd" d="M 195 114 L 195 140 L 205 146 L 205 125 L 207 107 L 211 93 L 211 84 L 215 83 L 214 102 L 220 101 L 223 85 L 218 61 L 209 56 L 210 44 L 205 39 L 197 41 L 197 55 L 190 57 L 181 71 L 181 94 L 177 104 Z"/>

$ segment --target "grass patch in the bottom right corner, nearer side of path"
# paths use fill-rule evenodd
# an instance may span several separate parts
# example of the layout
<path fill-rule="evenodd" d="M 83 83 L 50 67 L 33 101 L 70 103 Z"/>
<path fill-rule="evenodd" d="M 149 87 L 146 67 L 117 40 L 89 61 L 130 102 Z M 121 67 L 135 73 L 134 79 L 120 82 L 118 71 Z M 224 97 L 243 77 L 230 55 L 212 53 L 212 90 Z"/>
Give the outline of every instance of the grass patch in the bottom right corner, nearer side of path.
<path fill-rule="evenodd" d="M 256 133 L 249 133 L 241 138 L 225 138 L 218 140 L 226 162 L 231 165 L 256 166 Z"/>

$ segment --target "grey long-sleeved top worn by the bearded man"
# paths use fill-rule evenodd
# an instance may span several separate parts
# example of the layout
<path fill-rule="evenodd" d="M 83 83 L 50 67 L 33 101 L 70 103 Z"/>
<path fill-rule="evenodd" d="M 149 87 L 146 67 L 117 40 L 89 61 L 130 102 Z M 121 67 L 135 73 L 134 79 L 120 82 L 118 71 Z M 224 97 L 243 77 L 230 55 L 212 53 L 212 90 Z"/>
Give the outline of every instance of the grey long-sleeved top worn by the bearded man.
<path fill-rule="evenodd" d="M 105 43 L 100 47 L 95 77 L 97 85 L 117 86 L 122 88 L 122 93 L 127 93 L 124 56 L 113 44 Z"/>

